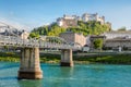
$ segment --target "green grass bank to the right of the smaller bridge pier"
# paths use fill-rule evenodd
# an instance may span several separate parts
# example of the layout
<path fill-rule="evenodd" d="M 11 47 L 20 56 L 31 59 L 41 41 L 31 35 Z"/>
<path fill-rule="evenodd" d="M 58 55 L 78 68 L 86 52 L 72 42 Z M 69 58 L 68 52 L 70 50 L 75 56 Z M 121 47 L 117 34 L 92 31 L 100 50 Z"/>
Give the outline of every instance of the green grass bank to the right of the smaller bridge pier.
<path fill-rule="evenodd" d="M 75 58 L 74 60 L 88 61 L 90 63 L 131 64 L 131 54 L 82 57 Z"/>

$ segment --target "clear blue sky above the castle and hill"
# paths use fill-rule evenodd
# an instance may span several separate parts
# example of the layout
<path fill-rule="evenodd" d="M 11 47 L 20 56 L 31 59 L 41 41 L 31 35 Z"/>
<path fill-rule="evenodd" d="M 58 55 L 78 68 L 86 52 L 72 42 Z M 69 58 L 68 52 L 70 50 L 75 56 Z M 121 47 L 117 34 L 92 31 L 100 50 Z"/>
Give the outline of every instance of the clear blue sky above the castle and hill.
<path fill-rule="evenodd" d="M 63 14 L 98 13 L 112 29 L 131 29 L 131 0 L 0 0 L 0 22 L 32 30 Z"/>

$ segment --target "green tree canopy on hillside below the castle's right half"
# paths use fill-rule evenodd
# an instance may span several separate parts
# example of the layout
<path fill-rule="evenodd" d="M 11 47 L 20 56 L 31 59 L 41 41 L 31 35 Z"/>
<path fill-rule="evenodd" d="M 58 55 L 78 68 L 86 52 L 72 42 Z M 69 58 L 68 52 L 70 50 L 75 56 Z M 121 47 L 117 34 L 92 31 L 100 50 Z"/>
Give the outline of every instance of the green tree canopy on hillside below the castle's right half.
<path fill-rule="evenodd" d="M 68 30 L 73 33 L 82 33 L 83 35 L 100 35 L 104 32 L 109 32 L 110 27 L 107 24 L 102 25 L 99 22 L 90 21 L 90 22 L 78 22 L 78 27 L 69 27 Z"/>

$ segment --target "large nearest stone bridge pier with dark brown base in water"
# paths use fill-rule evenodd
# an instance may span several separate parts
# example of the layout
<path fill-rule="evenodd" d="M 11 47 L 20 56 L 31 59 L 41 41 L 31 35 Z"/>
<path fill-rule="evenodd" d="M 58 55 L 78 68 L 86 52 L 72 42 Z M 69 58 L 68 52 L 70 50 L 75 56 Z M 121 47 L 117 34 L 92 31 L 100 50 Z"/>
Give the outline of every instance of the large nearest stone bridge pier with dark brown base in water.
<path fill-rule="evenodd" d="M 39 48 L 23 48 L 21 53 L 19 79 L 43 78 L 39 64 Z"/>

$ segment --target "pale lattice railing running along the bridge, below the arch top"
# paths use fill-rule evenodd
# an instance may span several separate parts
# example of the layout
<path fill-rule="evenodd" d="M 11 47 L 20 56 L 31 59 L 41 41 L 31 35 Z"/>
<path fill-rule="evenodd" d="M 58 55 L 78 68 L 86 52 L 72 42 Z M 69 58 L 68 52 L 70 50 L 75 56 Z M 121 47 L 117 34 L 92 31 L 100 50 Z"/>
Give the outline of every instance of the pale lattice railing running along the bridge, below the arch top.
<path fill-rule="evenodd" d="M 34 38 L 22 39 L 14 36 L 1 36 L 0 46 L 16 46 L 16 47 L 39 47 L 39 48 L 57 48 L 57 49 L 80 49 L 71 46 L 68 42 L 50 42 L 48 40 L 38 40 Z"/>

